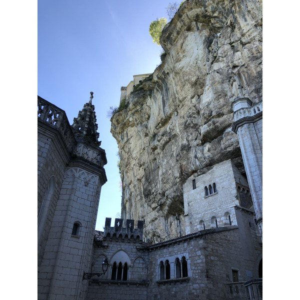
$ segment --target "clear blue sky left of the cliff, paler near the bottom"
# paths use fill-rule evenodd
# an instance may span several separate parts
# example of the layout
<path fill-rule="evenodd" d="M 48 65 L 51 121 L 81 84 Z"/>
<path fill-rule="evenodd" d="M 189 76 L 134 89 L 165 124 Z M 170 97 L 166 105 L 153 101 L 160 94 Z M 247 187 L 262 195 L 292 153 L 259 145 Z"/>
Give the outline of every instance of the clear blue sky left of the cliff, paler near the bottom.
<path fill-rule="evenodd" d="M 66 112 L 70 124 L 89 100 L 105 149 L 107 182 L 101 189 L 96 229 L 121 211 L 117 143 L 107 111 L 118 106 L 120 87 L 135 74 L 152 73 L 161 46 L 152 42 L 152 20 L 166 17 L 169 0 L 38 0 L 38 95 Z"/>

